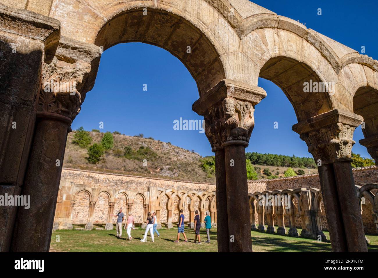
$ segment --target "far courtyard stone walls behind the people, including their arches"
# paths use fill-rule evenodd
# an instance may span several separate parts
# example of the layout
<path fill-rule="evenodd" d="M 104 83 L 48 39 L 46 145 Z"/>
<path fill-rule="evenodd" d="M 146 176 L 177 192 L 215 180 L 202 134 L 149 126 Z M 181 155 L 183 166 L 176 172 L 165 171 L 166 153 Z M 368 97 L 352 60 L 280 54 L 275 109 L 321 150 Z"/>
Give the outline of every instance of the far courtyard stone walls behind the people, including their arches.
<path fill-rule="evenodd" d="M 353 170 L 356 180 L 356 190 L 364 185 L 374 183 L 378 178 L 378 167 L 366 167 Z M 294 189 L 291 194 L 288 189 Z M 251 206 L 251 228 L 265 230 L 261 225 L 268 224 L 270 232 L 276 232 L 274 225 L 282 229 L 278 233 L 296 235 L 296 228 L 302 228 L 305 220 L 304 200 L 302 193 L 312 195 L 314 211 L 318 213 L 319 231 L 328 230 L 319 186 L 319 175 L 303 175 L 273 180 L 248 181 L 249 204 Z M 128 175 L 105 174 L 99 172 L 81 171 L 75 169 L 63 169 L 60 180 L 59 195 L 54 218 L 54 229 L 71 229 L 73 224 L 83 225 L 86 229 L 92 229 L 93 225 L 105 225 L 107 229 L 113 229 L 116 218 L 108 218 L 110 211 L 117 212 L 122 208 L 124 213 L 132 212 L 135 222 L 144 223 L 146 212 L 156 211 L 159 224 L 172 228 L 178 221 L 179 209 L 184 210 L 187 225 L 193 227 L 193 212 L 198 210 L 201 219 L 206 210 L 210 211 L 212 222 L 216 224 L 216 202 L 214 195 L 215 185 L 209 183 L 180 182 L 157 178 L 136 177 Z M 370 191 L 370 192 L 369 192 Z M 376 194 L 376 189 L 370 188 L 361 191 L 367 196 L 362 205 L 363 223 L 366 233 L 378 233 L 377 204 L 374 198 L 367 194 Z M 290 193 L 293 201 L 291 210 L 281 211 L 279 207 L 260 208 L 257 198 L 268 193 Z M 255 197 L 253 197 L 255 196 Z M 363 197 L 361 196 L 361 197 Z M 297 197 L 297 199 L 295 198 Z M 311 196 L 310 196 L 311 197 Z M 303 209 L 299 207 L 300 202 Z M 310 204 L 311 205 L 311 204 Z M 93 209 L 94 207 L 94 209 Z M 146 208 L 147 207 L 147 208 Z M 308 207 L 310 210 L 310 207 Z M 90 216 L 90 211 L 92 215 Z M 301 215 L 301 212 L 303 213 Z M 259 216 L 259 214 L 261 214 Z M 269 218 L 273 216 L 272 218 Z M 261 218 L 263 216 L 263 218 Z M 259 218 L 260 217 L 260 218 Z M 284 222 L 280 222 L 283 217 Z M 316 215 L 314 217 L 317 217 Z M 291 225 L 291 223 L 295 225 Z M 260 225 L 261 224 L 261 225 Z M 260 228 L 258 228 L 260 226 Z M 285 227 L 290 227 L 287 231 Z M 307 230 L 312 227 L 307 228 Z M 302 232 L 303 233 L 303 232 Z M 318 234 L 305 235 L 316 238 Z"/>

